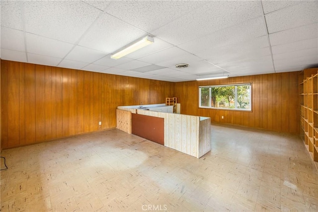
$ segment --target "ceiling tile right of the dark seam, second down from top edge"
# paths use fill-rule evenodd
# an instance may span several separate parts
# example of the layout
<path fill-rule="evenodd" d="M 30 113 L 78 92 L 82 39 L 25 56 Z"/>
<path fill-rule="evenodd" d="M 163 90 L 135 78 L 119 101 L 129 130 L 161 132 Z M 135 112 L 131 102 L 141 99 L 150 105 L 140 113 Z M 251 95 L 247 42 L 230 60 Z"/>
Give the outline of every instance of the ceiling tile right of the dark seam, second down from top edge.
<path fill-rule="evenodd" d="M 318 1 L 306 1 L 265 15 L 268 33 L 318 22 Z M 279 21 L 277 21 L 279 20 Z"/>

